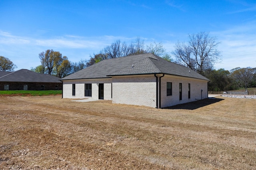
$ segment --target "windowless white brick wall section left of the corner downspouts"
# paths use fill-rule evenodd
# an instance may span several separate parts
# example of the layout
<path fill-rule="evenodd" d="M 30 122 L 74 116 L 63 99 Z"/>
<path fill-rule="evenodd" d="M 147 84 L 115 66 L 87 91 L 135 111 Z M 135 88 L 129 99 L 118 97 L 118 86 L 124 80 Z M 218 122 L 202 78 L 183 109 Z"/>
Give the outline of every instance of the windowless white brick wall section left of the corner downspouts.
<path fill-rule="evenodd" d="M 156 77 L 114 76 L 113 103 L 156 107 Z"/>

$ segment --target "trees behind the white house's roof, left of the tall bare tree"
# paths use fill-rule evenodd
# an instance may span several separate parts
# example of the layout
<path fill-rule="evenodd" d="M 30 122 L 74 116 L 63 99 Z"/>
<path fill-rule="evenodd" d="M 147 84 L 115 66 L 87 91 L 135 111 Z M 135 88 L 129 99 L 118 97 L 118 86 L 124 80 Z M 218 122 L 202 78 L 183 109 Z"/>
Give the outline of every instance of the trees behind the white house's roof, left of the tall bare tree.
<path fill-rule="evenodd" d="M 170 55 L 166 52 L 162 43 L 154 42 L 145 46 L 144 41 L 141 40 L 140 37 L 137 37 L 136 41 L 130 44 L 117 40 L 111 45 L 104 47 L 100 52 L 90 55 L 89 60 L 81 59 L 78 62 L 70 62 L 68 57 L 62 56 L 59 51 L 48 49 L 39 54 L 41 64 L 31 70 L 44 74 L 52 74 L 62 78 L 105 59 L 144 53 L 153 53 L 168 61 L 171 60 Z"/>

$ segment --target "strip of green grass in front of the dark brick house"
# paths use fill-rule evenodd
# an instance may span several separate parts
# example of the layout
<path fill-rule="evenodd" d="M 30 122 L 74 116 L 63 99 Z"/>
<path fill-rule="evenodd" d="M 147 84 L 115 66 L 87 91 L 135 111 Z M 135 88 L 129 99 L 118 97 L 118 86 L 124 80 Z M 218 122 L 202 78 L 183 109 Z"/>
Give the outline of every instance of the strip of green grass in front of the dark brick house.
<path fill-rule="evenodd" d="M 0 96 L 49 96 L 60 95 L 62 90 L 5 90 L 0 91 Z"/>

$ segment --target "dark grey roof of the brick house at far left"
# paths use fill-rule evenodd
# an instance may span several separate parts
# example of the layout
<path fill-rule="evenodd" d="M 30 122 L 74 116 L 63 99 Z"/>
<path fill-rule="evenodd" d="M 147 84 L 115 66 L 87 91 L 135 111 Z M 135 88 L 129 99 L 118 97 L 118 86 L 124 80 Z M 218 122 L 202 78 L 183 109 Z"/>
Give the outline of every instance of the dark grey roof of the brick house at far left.
<path fill-rule="evenodd" d="M 49 74 L 40 74 L 27 69 L 14 72 L 0 72 L 0 82 L 51 82 L 61 83 L 60 78 Z"/>

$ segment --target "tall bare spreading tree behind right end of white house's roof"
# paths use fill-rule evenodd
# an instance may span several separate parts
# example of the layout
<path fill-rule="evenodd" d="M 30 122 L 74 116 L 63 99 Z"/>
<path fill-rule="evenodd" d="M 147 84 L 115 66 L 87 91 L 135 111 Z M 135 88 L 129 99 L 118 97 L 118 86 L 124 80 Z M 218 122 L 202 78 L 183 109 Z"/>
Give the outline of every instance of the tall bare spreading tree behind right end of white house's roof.
<path fill-rule="evenodd" d="M 221 52 L 217 49 L 220 42 L 216 42 L 216 37 L 210 37 L 209 32 L 189 34 L 188 37 L 187 43 L 176 43 L 172 54 L 176 63 L 202 74 L 220 60 Z"/>

